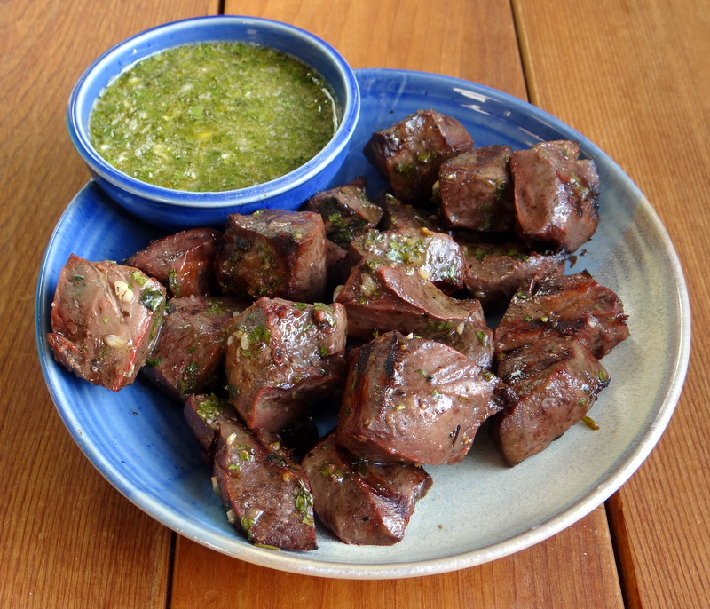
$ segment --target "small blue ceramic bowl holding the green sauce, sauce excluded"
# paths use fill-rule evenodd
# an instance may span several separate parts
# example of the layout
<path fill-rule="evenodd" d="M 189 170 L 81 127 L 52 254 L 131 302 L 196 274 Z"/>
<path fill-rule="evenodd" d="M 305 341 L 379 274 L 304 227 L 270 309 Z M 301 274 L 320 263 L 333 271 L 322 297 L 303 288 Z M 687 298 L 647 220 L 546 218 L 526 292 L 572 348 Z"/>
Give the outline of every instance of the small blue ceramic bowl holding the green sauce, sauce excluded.
<path fill-rule="evenodd" d="M 195 193 L 147 184 L 115 169 L 91 146 L 89 117 L 108 83 L 139 59 L 180 44 L 243 41 L 286 52 L 315 68 L 330 84 L 341 109 L 338 130 L 310 161 L 258 186 Z M 69 98 L 67 126 L 91 176 L 115 202 L 139 218 L 167 229 L 224 225 L 227 214 L 269 207 L 294 210 L 323 190 L 343 164 L 359 117 L 358 82 L 329 44 L 300 28 L 273 20 L 221 15 L 168 23 L 132 36 L 106 51 L 84 72 Z"/>

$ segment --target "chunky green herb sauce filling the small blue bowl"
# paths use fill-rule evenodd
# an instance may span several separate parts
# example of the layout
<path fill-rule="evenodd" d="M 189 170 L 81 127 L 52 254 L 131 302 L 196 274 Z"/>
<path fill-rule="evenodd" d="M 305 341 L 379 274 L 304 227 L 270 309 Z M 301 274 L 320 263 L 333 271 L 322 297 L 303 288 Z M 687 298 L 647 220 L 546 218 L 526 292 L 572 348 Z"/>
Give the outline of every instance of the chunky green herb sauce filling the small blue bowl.
<path fill-rule="evenodd" d="M 189 191 L 262 184 L 333 137 L 339 108 L 312 67 L 268 47 L 188 44 L 139 61 L 101 92 L 91 143 L 118 170 Z"/>

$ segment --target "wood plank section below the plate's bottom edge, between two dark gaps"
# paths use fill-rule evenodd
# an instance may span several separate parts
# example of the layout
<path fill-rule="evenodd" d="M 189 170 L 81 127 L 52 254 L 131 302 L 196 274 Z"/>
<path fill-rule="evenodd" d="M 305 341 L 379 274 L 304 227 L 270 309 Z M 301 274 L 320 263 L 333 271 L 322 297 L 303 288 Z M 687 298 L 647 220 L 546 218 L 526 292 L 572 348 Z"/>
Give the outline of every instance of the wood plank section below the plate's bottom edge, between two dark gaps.
<path fill-rule="evenodd" d="M 623 605 L 614 558 L 599 551 L 609 546 L 600 507 L 548 542 L 493 563 L 404 580 L 345 581 L 249 565 L 178 537 L 171 609 L 272 609 L 285 598 L 312 609 L 618 608 Z"/>

